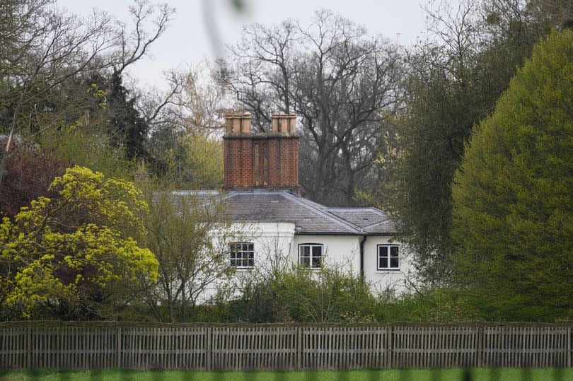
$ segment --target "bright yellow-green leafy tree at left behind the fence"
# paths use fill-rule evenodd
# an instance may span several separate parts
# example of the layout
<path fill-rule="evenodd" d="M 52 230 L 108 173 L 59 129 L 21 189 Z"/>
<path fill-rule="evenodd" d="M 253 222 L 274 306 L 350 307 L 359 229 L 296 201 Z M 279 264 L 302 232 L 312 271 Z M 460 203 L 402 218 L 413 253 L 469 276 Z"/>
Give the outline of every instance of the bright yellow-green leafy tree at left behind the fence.
<path fill-rule="evenodd" d="M 75 166 L 40 197 L 0 224 L 4 307 L 29 316 L 43 303 L 91 305 L 112 281 L 156 279 L 154 254 L 137 245 L 147 204 L 134 184 Z"/>

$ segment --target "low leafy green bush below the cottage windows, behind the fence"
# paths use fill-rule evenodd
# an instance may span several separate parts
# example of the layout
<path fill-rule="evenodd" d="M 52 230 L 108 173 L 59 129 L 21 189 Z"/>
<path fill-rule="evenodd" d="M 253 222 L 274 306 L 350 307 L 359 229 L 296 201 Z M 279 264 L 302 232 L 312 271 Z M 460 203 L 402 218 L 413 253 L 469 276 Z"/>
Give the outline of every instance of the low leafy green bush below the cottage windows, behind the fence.
<path fill-rule="evenodd" d="M 351 269 L 293 266 L 252 279 L 230 304 L 231 320 L 243 322 L 372 322 L 377 301 Z"/>

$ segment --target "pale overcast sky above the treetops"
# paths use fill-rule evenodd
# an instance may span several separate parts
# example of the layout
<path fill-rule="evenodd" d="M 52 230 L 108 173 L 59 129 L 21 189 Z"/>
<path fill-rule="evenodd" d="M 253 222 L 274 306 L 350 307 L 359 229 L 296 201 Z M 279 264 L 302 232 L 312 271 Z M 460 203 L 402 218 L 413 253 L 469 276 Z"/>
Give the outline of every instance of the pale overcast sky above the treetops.
<path fill-rule="evenodd" d="M 233 44 L 244 25 L 280 23 L 286 18 L 308 25 L 313 11 L 329 8 L 359 25 L 372 35 L 383 35 L 402 45 L 410 45 L 424 28 L 421 4 L 427 0 L 244 0 L 245 10 L 237 13 L 232 0 L 167 0 L 175 7 L 175 19 L 166 33 L 151 48 L 151 57 L 137 62 L 131 69 L 142 85 L 163 87 L 163 71 L 193 66 L 202 59 L 214 59 L 216 49 L 207 32 L 204 4 L 210 1 L 214 14 L 212 26 L 222 45 Z M 72 13 L 87 15 L 92 8 L 112 13 L 129 25 L 129 0 L 57 0 Z"/>

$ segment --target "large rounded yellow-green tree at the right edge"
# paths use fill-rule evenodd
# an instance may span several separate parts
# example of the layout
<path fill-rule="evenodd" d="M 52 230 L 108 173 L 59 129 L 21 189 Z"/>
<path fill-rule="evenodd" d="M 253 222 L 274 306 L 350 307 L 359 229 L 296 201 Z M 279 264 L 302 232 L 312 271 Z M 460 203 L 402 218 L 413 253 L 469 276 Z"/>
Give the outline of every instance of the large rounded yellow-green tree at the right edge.
<path fill-rule="evenodd" d="M 453 193 L 454 279 L 485 316 L 573 315 L 573 31 L 553 33 L 473 133 Z"/>

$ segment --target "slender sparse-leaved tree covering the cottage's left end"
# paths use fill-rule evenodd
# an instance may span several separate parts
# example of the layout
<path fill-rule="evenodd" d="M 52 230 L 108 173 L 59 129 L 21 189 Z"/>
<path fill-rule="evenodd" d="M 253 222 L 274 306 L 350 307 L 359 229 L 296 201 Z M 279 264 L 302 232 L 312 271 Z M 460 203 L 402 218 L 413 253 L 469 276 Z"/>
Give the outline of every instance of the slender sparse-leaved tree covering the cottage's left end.
<path fill-rule="evenodd" d="M 185 322 L 219 283 L 230 282 L 229 245 L 244 239 L 243 231 L 226 221 L 217 195 L 161 187 L 148 196 L 147 246 L 159 262 L 159 276 L 156 283 L 142 280 L 144 302 L 158 321 Z"/>

